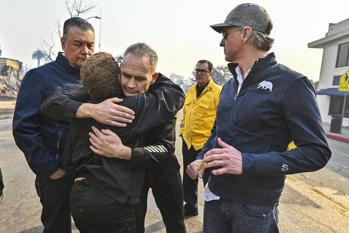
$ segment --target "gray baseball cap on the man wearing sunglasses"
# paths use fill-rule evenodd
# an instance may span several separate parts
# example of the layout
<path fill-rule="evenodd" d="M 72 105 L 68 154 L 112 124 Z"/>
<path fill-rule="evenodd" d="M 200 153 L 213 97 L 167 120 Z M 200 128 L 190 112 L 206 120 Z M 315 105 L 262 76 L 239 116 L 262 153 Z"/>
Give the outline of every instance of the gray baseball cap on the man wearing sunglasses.
<path fill-rule="evenodd" d="M 257 4 L 244 3 L 236 6 L 227 16 L 224 23 L 211 25 L 217 32 L 222 32 L 224 27 L 250 27 L 252 30 L 270 34 L 273 29 L 272 20 L 270 20 L 267 10 Z"/>

